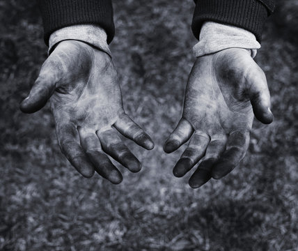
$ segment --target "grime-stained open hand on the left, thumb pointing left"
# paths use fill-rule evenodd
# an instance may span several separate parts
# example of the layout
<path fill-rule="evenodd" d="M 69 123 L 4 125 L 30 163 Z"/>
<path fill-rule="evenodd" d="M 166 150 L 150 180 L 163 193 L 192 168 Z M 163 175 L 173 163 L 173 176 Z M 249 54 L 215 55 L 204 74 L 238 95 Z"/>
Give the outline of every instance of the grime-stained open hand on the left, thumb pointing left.
<path fill-rule="evenodd" d="M 76 40 L 59 43 L 20 108 L 36 112 L 47 100 L 61 151 L 80 174 L 91 177 L 96 171 L 120 183 L 123 176 L 107 154 L 131 172 L 140 171 L 141 163 L 115 129 L 145 149 L 154 144 L 125 114 L 116 68 L 107 53 Z"/>

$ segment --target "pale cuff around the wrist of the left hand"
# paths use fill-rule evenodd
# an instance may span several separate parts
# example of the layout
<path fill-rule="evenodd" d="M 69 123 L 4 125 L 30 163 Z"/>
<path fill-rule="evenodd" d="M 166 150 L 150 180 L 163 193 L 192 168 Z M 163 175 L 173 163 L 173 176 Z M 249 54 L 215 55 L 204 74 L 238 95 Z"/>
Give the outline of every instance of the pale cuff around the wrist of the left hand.
<path fill-rule="evenodd" d="M 52 52 L 57 43 L 63 40 L 79 40 L 93 45 L 111 56 L 109 45 L 107 44 L 107 33 L 100 26 L 78 24 L 54 31 L 49 37 L 48 54 Z"/>

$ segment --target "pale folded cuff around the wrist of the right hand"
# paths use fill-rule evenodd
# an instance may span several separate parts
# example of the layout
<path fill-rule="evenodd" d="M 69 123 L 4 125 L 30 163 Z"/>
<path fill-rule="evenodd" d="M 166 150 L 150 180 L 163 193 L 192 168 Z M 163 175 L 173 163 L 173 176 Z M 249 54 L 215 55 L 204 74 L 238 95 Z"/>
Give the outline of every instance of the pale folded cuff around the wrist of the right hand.
<path fill-rule="evenodd" d="M 193 47 L 196 57 L 212 54 L 229 48 L 251 50 L 251 57 L 257 54 L 260 43 L 256 36 L 245 29 L 217 22 L 205 22 L 200 33 L 200 40 Z"/>

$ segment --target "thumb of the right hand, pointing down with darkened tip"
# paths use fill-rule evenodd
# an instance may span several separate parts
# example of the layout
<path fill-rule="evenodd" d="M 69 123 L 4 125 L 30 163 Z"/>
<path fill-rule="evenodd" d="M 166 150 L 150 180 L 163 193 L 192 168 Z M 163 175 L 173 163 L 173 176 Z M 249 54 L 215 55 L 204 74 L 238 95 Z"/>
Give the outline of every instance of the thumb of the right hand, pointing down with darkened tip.
<path fill-rule="evenodd" d="M 265 124 L 272 123 L 273 114 L 270 110 L 270 93 L 266 76 L 260 68 L 251 70 L 246 77 L 249 88 L 249 98 L 256 118 Z"/>

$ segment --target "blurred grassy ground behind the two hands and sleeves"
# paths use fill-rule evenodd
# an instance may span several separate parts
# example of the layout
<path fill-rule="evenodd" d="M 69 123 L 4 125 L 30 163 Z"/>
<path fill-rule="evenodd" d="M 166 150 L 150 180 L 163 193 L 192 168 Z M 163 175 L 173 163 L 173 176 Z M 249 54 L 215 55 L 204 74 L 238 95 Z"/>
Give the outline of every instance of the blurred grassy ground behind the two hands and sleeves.
<path fill-rule="evenodd" d="M 22 114 L 46 58 L 36 1 L 0 0 L 0 250 L 297 250 L 298 1 L 278 1 L 256 61 L 275 120 L 255 121 L 246 158 L 199 190 L 172 167 L 182 149 L 162 144 L 180 119 L 196 40 L 194 3 L 114 1 L 111 44 L 125 110 L 152 135 L 153 151 L 120 185 L 79 176 L 58 149 L 49 106 Z"/>

